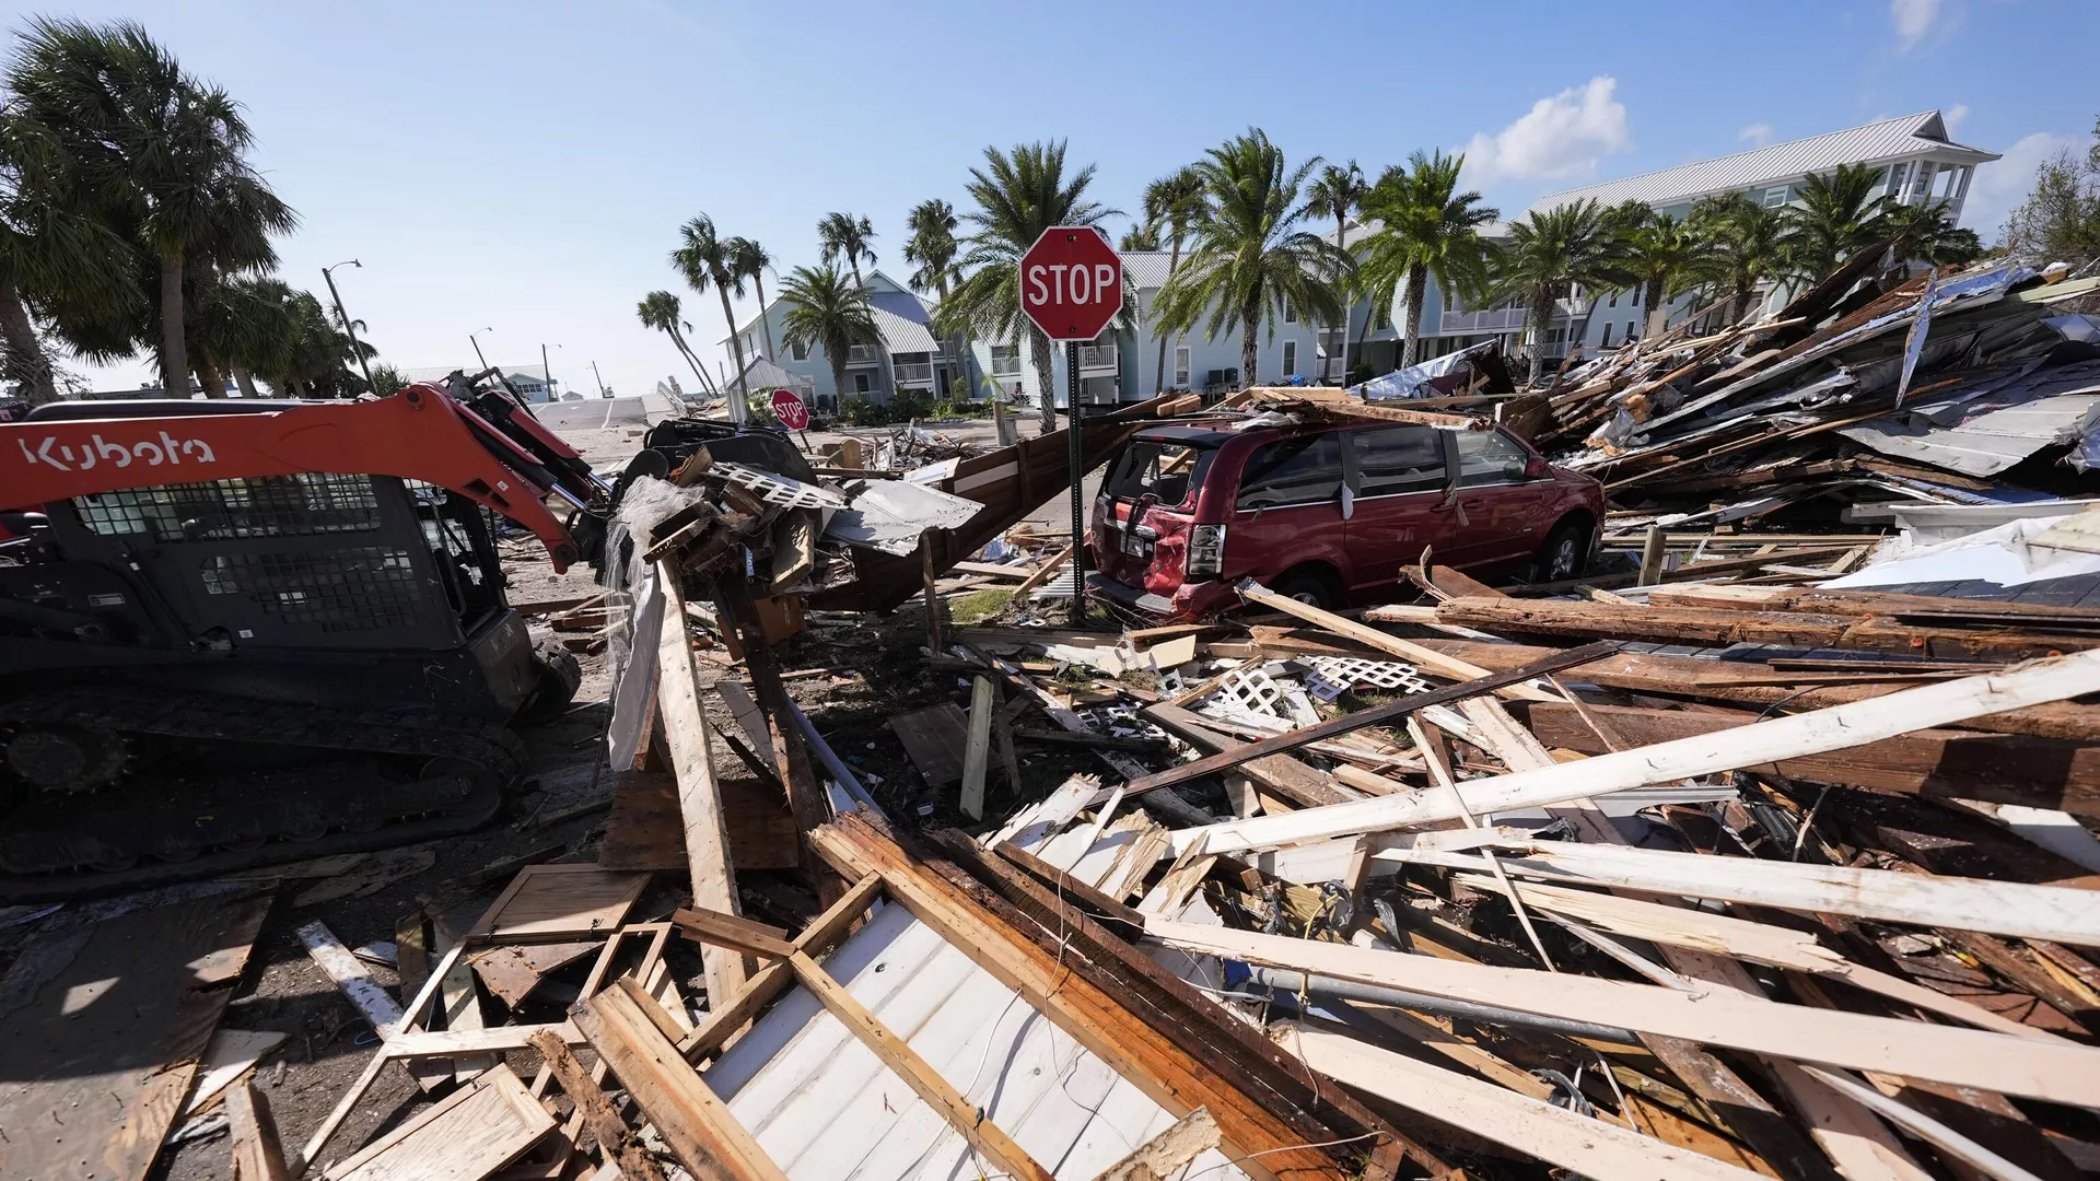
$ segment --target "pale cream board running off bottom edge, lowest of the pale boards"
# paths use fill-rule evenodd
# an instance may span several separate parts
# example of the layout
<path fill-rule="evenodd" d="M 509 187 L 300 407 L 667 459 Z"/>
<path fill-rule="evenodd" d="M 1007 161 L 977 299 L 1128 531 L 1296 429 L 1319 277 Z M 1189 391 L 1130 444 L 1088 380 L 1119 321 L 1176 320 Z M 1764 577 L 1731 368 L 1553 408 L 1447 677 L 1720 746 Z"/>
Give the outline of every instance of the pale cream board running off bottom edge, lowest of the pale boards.
<path fill-rule="evenodd" d="M 1596 1181 L 1749 1181 L 1747 1168 L 1667 1145 L 1617 1124 L 1579 1116 L 1529 1095 L 1468 1078 L 1346 1034 L 1294 1021 L 1275 1025 L 1277 1042 L 1312 1070 L 1434 1120 L 1480 1135 Z"/>

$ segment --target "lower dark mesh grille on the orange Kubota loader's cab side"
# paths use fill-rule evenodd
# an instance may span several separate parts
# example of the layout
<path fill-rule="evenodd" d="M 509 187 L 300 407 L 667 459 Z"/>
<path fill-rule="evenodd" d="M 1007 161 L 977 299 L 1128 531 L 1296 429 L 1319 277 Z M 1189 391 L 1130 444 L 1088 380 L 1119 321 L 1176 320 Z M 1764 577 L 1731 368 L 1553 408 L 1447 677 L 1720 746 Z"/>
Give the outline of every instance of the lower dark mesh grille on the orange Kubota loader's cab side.
<path fill-rule="evenodd" d="M 216 555 L 200 567 L 210 595 L 246 595 L 286 624 L 330 633 L 416 624 L 416 565 L 399 548 Z"/>

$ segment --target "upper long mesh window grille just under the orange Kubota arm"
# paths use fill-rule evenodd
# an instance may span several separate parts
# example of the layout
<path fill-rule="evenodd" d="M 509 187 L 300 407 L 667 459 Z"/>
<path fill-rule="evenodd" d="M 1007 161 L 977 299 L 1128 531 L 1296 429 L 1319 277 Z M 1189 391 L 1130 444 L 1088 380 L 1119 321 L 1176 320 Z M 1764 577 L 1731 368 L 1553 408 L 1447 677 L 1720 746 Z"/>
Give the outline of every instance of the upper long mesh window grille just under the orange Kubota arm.
<path fill-rule="evenodd" d="M 76 496 L 74 511 L 97 534 L 145 534 L 155 542 L 296 538 L 380 527 L 380 498 L 372 477 L 336 473 L 97 492 Z"/>

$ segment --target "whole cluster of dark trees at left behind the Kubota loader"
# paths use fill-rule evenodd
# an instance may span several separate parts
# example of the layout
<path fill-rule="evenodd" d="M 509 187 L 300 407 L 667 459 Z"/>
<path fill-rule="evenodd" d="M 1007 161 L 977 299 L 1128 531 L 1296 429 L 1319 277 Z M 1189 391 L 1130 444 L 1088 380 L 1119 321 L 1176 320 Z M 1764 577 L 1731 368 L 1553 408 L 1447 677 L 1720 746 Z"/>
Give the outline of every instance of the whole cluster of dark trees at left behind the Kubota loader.
<path fill-rule="evenodd" d="M 52 345 L 90 361 L 153 355 L 162 389 L 346 397 L 353 326 L 275 277 L 298 225 L 248 160 L 225 88 L 134 21 L 32 17 L 0 105 L 0 376 L 59 397 Z M 382 368 L 386 378 L 397 378 Z M 382 374 L 374 374 L 380 380 Z"/>

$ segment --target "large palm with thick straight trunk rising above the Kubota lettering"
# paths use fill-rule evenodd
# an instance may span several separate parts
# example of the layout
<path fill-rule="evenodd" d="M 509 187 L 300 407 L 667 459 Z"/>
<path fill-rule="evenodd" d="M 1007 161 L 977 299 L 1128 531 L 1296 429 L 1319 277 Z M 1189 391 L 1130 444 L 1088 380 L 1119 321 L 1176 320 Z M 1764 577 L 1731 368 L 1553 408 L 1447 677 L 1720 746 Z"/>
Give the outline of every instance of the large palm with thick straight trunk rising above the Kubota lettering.
<path fill-rule="evenodd" d="M 254 137 L 239 105 L 185 74 L 134 21 L 36 17 L 8 84 L 76 160 L 88 200 L 158 258 L 162 382 L 170 393 L 189 389 L 191 263 L 254 265 L 271 233 L 298 223 L 248 164 Z"/>

